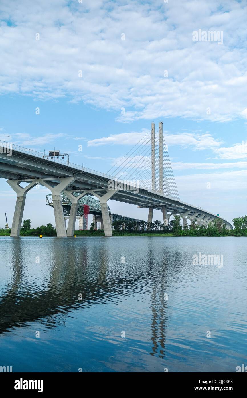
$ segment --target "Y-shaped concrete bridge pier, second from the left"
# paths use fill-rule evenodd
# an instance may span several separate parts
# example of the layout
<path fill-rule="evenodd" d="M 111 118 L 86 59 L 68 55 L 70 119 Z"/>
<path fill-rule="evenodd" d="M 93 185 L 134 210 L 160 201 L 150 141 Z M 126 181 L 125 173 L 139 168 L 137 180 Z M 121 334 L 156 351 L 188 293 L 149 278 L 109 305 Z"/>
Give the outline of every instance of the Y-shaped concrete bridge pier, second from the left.
<path fill-rule="evenodd" d="M 61 202 L 61 193 L 71 185 L 73 181 L 75 181 L 74 177 L 63 177 L 59 178 L 60 183 L 57 184 L 55 187 L 50 185 L 49 179 L 40 178 L 40 184 L 44 185 L 46 188 L 50 189 L 52 192 L 52 201 L 53 201 L 53 208 L 54 208 L 54 216 L 56 222 L 56 230 L 57 230 L 57 237 L 65 237 L 66 235 L 66 228 L 65 228 L 65 220 L 63 216 L 63 205 Z M 52 181 L 51 181 L 52 182 Z"/>

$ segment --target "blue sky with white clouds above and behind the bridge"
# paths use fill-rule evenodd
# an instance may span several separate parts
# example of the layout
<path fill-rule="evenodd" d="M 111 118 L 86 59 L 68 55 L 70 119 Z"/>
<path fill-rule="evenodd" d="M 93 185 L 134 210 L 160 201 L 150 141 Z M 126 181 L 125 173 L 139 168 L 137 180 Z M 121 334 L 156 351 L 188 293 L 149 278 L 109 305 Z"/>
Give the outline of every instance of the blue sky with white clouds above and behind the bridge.
<path fill-rule="evenodd" d="M 0 139 L 105 172 L 162 120 L 180 199 L 229 221 L 245 215 L 246 16 L 234 0 L 2 0 Z M 194 41 L 199 31 L 218 38 Z M 15 193 L 0 188 L 2 227 Z M 54 222 L 46 193 L 27 195 L 33 226 Z"/>

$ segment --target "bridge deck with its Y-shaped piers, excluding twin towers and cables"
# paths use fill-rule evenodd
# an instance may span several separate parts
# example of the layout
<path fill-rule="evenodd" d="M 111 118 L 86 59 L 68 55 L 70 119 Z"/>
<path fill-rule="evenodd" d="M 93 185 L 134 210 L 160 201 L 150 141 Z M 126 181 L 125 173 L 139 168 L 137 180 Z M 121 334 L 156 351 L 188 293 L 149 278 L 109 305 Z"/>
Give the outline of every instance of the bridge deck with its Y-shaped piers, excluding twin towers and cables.
<path fill-rule="evenodd" d="M 17 193 L 17 202 L 13 218 L 11 236 L 19 236 L 22 222 L 25 197 L 29 189 L 40 184 L 48 187 L 52 192 L 53 207 L 56 220 L 57 236 L 67 236 L 61 194 L 67 190 L 75 197 L 77 203 L 78 195 L 83 197 L 90 194 L 98 198 L 101 207 L 101 215 L 105 229 L 105 236 L 112 236 L 111 220 L 107 201 L 121 201 L 130 203 L 137 207 L 149 209 L 149 221 L 152 219 L 153 209 L 161 210 L 164 224 L 167 225 L 171 215 L 181 215 L 183 222 L 187 220 L 207 224 L 217 215 L 195 207 L 179 199 L 164 195 L 162 190 L 156 191 L 145 186 L 124 185 L 123 180 L 108 176 L 76 164 L 67 164 L 60 159 L 48 160 L 39 152 L 28 150 L 16 145 L 9 144 L 10 152 L 6 151 L 6 143 L 0 141 L 0 178 L 8 179 L 8 183 Z M 117 183 L 113 189 L 109 189 L 110 181 Z M 21 187 L 21 183 L 27 183 Z M 122 185 L 121 185 L 122 184 Z M 76 213 L 74 214 L 76 217 Z M 75 219 L 74 217 L 74 219 Z M 232 229 L 232 225 L 222 219 L 226 228 Z M 73 229 L 74 221 L 71 226 Z"/>

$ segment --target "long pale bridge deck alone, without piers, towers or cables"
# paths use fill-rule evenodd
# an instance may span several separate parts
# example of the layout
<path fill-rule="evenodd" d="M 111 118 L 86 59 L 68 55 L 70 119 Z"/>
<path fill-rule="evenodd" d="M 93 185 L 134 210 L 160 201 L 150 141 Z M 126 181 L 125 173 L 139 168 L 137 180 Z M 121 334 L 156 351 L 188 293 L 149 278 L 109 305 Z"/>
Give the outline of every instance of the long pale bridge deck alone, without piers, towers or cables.
<path fill-rule="evenodd" d="M 6 147 L 11 146 L 11 156 L 6 152 Z M 67 187 L 69 190 L 78 192 L 83 189 L 97 190 L 108 189 L 109 180 L 115 177 L 91 170 L 77 164 L 69 163 L 65 160 L 53 159 L 47 160 L 44 154 L 17 146 L 14 144 L 0 141 L 0 178 L 18 179 L 19 181 L 29 181 L 31 179 L 49 179 L 50 184 L 56 186 L 61 177 L 73 177 L 75 181 Z M 123 182 L 117 179 L 117 183 Z M 130 187 L 131 188 L 131 187 Z M 135 189 L 135 187 L 134 187 Z M 101 195 L 101 191 L 98 194 Z M 199 217 L 201 221 L 209 222 L 215 218 L 221 218 L 217 215 L 195 207 L 189 203 L 172 199 L 157 191 L 148 190 L 147 187 L 139 186 L 139 191 L 135 190 L 116 190 L 111 200 L 130 203 L 140 207 L 151 207 L 161 210 L 165 207 L 168 212 L 193 218 Z M 189 212 L 189 213 L 188 213 Z M 226 228 L 233 229 L 230 222 L 222 219 Z"/>

